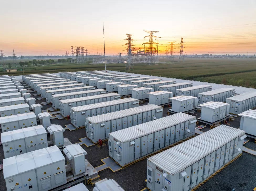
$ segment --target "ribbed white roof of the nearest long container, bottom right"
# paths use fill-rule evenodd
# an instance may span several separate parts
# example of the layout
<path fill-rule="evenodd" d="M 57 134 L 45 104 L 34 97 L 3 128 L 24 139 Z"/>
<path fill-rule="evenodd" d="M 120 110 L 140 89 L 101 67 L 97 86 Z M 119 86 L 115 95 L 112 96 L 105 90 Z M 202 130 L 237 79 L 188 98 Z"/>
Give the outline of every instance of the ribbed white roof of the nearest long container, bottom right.
<path fill-rule="evenodd" d="M 243 134 L 245 134 L 243 130 L 220 125 L 151 156 L 148 160 L 173 175 Z"/>

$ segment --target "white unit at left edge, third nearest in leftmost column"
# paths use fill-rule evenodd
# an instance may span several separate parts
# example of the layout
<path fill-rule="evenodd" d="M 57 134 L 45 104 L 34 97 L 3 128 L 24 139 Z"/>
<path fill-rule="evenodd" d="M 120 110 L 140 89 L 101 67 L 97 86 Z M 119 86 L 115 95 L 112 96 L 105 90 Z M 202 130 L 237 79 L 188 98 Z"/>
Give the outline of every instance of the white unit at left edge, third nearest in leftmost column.
<path fill-rule="evenodd" d="M 25 127 L 36 126 L 36 116 L 33 112 L 0 117 L 2 132 L 13 131 Z"/>

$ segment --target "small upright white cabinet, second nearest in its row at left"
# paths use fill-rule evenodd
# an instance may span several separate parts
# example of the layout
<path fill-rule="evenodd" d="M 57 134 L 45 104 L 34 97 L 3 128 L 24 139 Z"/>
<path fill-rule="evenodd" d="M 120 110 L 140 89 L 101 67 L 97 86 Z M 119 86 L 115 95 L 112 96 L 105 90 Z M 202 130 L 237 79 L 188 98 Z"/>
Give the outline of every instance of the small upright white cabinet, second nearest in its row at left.
<path fill-rule="evenodd" d="M 64 128 L 60 125 L 50 125 L 47 128 L 47 131 L 50 133 L 50 139 L 53 142 L 53 145 L 57 145 L 58 147 L 62 147 L 64 145 Z"/>

